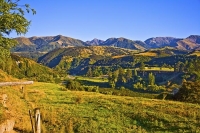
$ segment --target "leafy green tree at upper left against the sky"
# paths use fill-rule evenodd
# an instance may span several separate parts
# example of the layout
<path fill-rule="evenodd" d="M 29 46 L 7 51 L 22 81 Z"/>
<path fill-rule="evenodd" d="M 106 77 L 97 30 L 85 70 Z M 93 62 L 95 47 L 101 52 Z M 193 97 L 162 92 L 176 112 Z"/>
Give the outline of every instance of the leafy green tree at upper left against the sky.
<path fill-rule="evenodd" d="M 10 55 L 9 50 L 15 46 L 17 42 L 7 37 L 11 32 L 17 35 L 25 34 L 28 31 L 30 21 L 25 18 L 25 12 L 36 11 L 28 4 L 18 5 L 20 0 L 13 2 L 12 0 L 0 0 L 0 50 L 1 55 Z"/>

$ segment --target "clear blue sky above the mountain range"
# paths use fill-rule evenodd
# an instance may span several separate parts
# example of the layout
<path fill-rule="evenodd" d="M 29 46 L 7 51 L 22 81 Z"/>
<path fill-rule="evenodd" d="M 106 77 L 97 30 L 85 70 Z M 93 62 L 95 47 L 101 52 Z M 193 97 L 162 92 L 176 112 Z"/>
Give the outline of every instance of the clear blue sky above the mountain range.
<path fill-rule="evenodd" d="M 63 35 L 83 41 L 200 35 L 200 0 L 20 0 L 36 15 L 22 36 Z M 12 33 L 11 37 L 16 37 Z"/>

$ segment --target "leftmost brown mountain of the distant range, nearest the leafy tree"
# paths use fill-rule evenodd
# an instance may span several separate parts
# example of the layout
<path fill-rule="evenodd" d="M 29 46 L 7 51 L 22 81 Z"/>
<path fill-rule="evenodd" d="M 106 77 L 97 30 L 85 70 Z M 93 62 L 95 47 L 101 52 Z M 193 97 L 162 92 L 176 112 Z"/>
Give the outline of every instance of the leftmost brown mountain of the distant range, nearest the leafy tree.
<path fill-rule="evenodd" d="M 74 38 L 62 35 L 46 37 L 19 37 L 15 38 L 18 45 L 12 49 L 14 52 L 48 52 L 56 48 L 87 46 L 88 44 Z"/>

